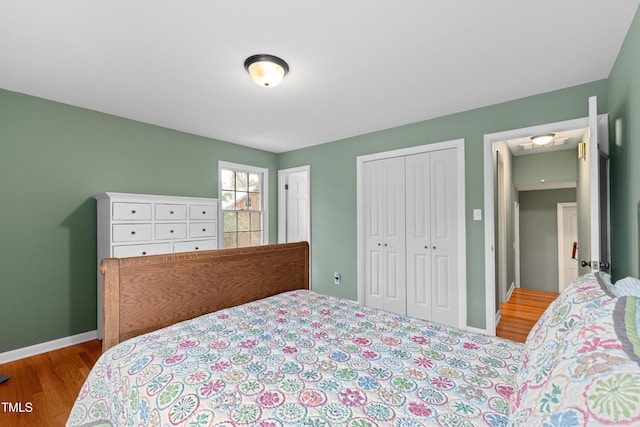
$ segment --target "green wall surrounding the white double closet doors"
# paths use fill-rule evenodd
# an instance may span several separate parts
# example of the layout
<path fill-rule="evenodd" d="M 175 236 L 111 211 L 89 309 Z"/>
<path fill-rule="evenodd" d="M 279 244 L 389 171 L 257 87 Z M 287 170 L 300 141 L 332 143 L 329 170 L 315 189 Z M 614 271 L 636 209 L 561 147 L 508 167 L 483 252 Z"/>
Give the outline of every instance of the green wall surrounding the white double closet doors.
<path fill-rule="evenodd" d="M 483 145 L 488 133 L 588 116 L 588 98 L 607 110 L 607 81 L 600 80 L 516 101 L 360 135 L 278 156 L 278 168 L 311 165 L 312 285 L 319 292 L 357 298 L 356 157 L 422 144 L 465 139 L 467 317 L 485 327 Z M 452 90 L 455 96 L 455 90 Z M 333 272 L 342 283 L 333 284 Z"/>

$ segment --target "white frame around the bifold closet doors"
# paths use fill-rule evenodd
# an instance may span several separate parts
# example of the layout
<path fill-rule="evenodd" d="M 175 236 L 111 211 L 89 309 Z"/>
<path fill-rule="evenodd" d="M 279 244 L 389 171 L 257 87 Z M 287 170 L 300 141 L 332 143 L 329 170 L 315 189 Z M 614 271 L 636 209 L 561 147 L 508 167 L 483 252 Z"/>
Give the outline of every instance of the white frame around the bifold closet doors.
<path fill-rule="evenodd" d="M 364 230 L 364 180 L 363 165 L 365 162 L 382 160 L 390 157 L 410 156 L 413 154 L 427 153 L 439 150 L 455 149 L 457 161 L 457 221 L 458 221 L 458 326 L 467 328 L 467 262 L 466 262 L 466 218 L 465 218 L 465 161 L 464 139 L 436 142 L 433 144 L 403 148 L 399 150 L 384 151 L 367 154 L 356 158 L 357 176 L 357 250 L 358 250 L 358 303 L 364 304 L 366 300 L 365 283 L 365 230 Z"/>

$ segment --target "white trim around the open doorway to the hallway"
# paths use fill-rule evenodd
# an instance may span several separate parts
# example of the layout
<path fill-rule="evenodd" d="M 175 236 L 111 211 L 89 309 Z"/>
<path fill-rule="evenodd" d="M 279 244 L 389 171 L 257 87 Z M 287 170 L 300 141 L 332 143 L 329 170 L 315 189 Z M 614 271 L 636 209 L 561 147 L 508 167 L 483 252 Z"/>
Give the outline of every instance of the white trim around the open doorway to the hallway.
<path fill-rule="evenodd" d="M 486 333 L 495 335 L 496 333 L 496 271 L 495 271 L 495 210 L 493 203 L 495 200 L 495 176 L 496 165 L 493 159 L 493 144 L 495 142 L 509 139 L 524 138 L 531 135 L 539 135 L 549 132 L 561 132 L 566 130 L 581 129 L 589 127 L 589 118 L 566 120 L 556 123 L 531 126 L 528 128 L 511 129 L 503 132 L 496 132 L 484 135 L 484 261 L 485 261 L 485 304 L 487 307 L 485 329 Z"/>

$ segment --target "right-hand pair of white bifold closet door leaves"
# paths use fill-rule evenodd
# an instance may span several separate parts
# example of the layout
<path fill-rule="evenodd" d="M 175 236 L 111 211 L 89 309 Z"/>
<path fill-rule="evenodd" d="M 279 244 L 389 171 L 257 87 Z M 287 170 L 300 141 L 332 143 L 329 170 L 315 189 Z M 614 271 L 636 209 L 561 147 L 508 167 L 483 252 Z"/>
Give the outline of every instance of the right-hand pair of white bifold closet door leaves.
<path fill-rule="evenodd" d="M 406 158 L 407 315 L 458 324 L 454 149 Z"/>

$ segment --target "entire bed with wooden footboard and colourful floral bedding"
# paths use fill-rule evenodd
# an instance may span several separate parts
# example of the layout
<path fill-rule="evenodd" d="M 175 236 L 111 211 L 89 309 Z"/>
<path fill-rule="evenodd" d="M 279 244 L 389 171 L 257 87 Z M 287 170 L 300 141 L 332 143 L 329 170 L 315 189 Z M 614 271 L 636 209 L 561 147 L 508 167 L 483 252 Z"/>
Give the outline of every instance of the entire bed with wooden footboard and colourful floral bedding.
<path fill-rule="evenodd" d="M 640 310 L 606 275 L 520 344 L 313 292 L 308 259 L 297 243 L 105 260 L 105 351 L 67 425 L 640 423 Z"/>

